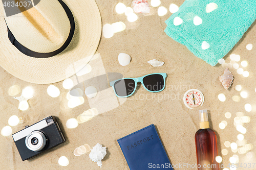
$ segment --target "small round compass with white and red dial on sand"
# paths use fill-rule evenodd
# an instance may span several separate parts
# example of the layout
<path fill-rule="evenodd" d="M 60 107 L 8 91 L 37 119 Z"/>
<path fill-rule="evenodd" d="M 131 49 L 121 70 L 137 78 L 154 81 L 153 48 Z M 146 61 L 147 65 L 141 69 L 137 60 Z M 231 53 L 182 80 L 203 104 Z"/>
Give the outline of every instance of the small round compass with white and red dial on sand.
<path fill-rule="evenodd" d="M 204 95 L 197 89 L 190 89 L 185 92 L 183 101 L 186 107 L 189 109 L 195 109 L 196 107 L 203 105 Z"/>

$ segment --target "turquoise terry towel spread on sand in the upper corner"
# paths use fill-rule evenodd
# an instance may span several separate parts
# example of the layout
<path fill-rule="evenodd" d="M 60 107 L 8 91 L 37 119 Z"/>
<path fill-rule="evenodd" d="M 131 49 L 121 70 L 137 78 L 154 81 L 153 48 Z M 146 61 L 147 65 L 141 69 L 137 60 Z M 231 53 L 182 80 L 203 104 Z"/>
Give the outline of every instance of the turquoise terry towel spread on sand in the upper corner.
<path fill-rule="evenodd" d="M 256 19 L 256 0 L 187 0 L 165 21 L 165 33 L 212 66 Z"/>

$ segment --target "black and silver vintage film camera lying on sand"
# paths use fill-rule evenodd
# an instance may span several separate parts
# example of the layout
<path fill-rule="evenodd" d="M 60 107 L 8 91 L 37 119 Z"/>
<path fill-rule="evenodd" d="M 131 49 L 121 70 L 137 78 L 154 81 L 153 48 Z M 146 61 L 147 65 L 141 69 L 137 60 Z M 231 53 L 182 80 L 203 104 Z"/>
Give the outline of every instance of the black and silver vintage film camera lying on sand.
<path fill-rule="evenodd" d="M 55 116 L 42 119 L 14 133 L 12 138 L 22 160 L 28 160 L 66 141 Z"/>

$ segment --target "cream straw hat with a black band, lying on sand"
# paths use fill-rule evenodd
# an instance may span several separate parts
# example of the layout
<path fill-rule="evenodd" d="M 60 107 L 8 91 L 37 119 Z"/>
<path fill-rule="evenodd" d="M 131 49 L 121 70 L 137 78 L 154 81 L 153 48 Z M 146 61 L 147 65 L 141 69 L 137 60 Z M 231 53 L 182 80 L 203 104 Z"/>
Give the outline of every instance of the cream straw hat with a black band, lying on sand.
<path fill-rule="evenodd" d="M 25 12 L 4 17 L 5 12 L 0 3 L 0 65 L 19 79 L 62 81 L 82 69 L 97 50 L 102 23 L 94 0 L 41 0 Z"/>

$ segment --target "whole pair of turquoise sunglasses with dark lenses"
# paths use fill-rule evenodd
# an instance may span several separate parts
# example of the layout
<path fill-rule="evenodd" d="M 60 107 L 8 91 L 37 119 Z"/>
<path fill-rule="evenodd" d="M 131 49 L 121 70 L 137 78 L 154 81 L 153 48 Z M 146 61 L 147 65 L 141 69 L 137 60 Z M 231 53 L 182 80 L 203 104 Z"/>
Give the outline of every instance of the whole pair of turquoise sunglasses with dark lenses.
<path fill-rule="evenodd" d="M 154 73 L 139 78 L 124 78 L 110 82 L 116 96 L 126 98 L 131 96 L 140 82 L 142 86 L 150 92 L 159 92 L 164 89 L 166 73 Z"/>

